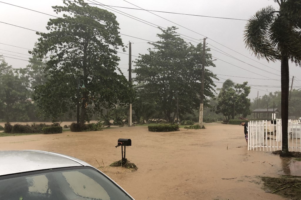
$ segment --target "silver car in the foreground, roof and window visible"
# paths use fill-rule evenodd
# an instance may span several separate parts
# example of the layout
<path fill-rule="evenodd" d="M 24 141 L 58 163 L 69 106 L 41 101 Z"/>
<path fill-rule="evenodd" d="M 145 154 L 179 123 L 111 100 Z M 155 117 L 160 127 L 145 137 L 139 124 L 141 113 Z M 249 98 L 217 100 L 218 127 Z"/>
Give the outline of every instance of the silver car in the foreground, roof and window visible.
<path fill-rule="evenodd" d="M 38 150 L 0 151 L 0 200 L 133 200 L 98 169 Z"/>

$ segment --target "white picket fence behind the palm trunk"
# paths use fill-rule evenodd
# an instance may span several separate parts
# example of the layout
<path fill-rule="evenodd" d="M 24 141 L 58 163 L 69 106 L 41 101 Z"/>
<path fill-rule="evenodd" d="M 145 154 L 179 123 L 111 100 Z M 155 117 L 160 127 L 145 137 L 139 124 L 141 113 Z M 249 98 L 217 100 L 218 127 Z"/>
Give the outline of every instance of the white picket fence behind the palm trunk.
<path fill-rule="evenodd" d="M 288 121 L 288 149 L 301 152 L 301 124 L 296 120 Z M 276 124 L 260 120 L 248 123 L 248 150 L 276 151 L 282 147 L 281 119 Z"/>

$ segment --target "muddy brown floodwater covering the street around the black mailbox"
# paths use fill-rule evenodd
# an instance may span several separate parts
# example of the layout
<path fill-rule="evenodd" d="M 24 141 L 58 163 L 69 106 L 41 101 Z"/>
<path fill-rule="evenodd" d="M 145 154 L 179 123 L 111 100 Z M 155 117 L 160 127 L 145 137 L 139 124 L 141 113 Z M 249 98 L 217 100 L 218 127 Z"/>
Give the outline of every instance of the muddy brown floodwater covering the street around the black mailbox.
<path fill-rule="evenodd" d="M 8 136 L 0 137 L 0 150 L 36 149 L 75 156 L 105 171 L 136 200 L 285 199 L 265 192 L 259 178 L 281 174 L 283 162 L 278 155 L 248 151 L 241 126 L 205 126 L 164 133 L 135 126 Z M 108 167 L 121 159 L 121 147 L 115 148 L 118 138 L 132 140 L 132 146 L 126 147 L 126 158 L 138 171 Z"/>

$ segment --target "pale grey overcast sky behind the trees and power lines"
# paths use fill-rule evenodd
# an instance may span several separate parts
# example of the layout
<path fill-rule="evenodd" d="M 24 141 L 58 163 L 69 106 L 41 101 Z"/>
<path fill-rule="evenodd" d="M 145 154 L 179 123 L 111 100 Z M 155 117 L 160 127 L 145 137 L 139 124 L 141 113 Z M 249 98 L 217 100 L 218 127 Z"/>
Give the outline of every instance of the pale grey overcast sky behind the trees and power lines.
<path fill-rule="evenodd" d="M 1 2 L 10 3 L 13 5 L 21 6 L 24 8 L 29 8 L 35 11 L 40 11 L 46 14 L 56 15 L 53 12 L 51 6 L 63 5 L 62 0 L 0 0 Z M 127 1 L 127 2 L 126 2 Z M 147 49 L 152 47 L 147 44 L 147 41 L 158 41 L 156 37 L 160 30 L 152 26 L 162 26 L 164 28 L 170 26 L 176 26 L 179 29 L 177 32 L 189 36 L 193 45 L 197 45 L 202 42 L 204 37 L 208 47 L 211 48 L 213 59 L 216 67 L 209 67 L 213 73 L 218 74 L 220 80 L 215 80 L 218 88 L 222 86 L 222 83 L 230 78 L 235 83 L 243 83 L 248 81 L 251 86 L 251 93 L 249 98 L 251 102 L 257 97 L 257 92 L 259 96 L 268 94 L 269 92 L 275 92 L 281 90 L 280 82 L 280 62 L 270 62 L 260 59 L 252 55 L 245 48 L 243 41 L 244 26 L 247 19 L 252 17 L 256 11 L 268 5 L 273 5 L 278 8 L 272 0 L 152 0 L 152 1 L 139 1 L 139 0 L 96 0 L 88 1 L 87 3 L 97 3 L 109 6 L 119 6 L 127 8 L 105 8 L 113 12 L 117 16 L 117 21 L 120 27 L 120 33 L 125 35 L 130 35 L 133 37 L 128 37 L 121 35 L 124 44 L 128 44 L 131 41 L 132 44 L 132 59 L 136 59 L 139 53 L 147 53 Z M 128 3 L 129 2 L 129 3 Z M 130 4 L 131 3 L 131 4 Z M 133 4 L 133 5 L 132 5 Z M 151 14 L 147 11 L 134 10 L 128 8 L 137 8 L 139 6 L 146 10 L 154 11 L 167 11 L 174 13 L 183 14 L 194 14 L 209 17 L 197 17 L 188 16 L 180 14 L 168 14 L 153 12 L 160 17 Z M 104 8 L 99 5 L 99 8 Z M 46 24 L 51 16 L 37 13 L 34 11 L 29 11 L 24 8 L 18 8 L 12 5 L 7 5 L 0 3 L 0 21 L 4 23 L 10 23 L 16 26 L 22 26 L 28 29 L 33 29 L 35 31 L 46 32 Z M 119 11 L 116 11 L 117 9 Z M 149 23 L 155 25 L 149 26 L 145 23 L 139 22 L 137 20 L 126 17 L 125 15 L 119 14 L 117 12 L 124 12 L 130 14 L 134 17 L 138 17 L 141 20 L 145 20 Z M 161 18 L 162 17 L 162 18 Z M 220 19 L 213 17 L 223 17 L 223 18 L 234 18 L 242 20 L 231 20 L 231 19 Z M 163 19 L 165 18 L 165 19 Z M 168 21 L 169 20 L 169 21 Z M 37 42 L 38 35 L 34 31 L 22 29 L 19 27 L 11 26 L 8 24 L 0 23 L 0 55 L 5 57 L 6 62 L 12 65 L 14 68 L 23 68 L 28 62 L 27 58 L 30 57 L 28 50 L 34 47 L 34 43 Z M 175 24 L 176 23 L 176 24 Z M 178 25 L 177 25 L 178 24 Z M 190 30 L 188 30 L 190 29 Z M 185 38 L 188 38 L 183 36 Z M 141 40 L 141 39 L 145 40 Z M 16 47 L 8 46 L 13 45 Z M 18 48 L 23 47 L 26 49 Z M 11 52 L 9 52 L 11 51 Z M 15 52 L 15 53 L 12 53 Z M 224 52 L 224 53 L 223 53 Z M 128 53 L 128 52 L 126 52 Z M 11 55 L 8 55 L 11 54 Z M 23 55 L 25 54 L 25 55 Z M 227 55 L 225 55 L 227 54 Z M 13 55 L 13 56 L 12 56 Z M 20 56 L 20 57 L 18 57 Z M 124 54 L 119 54 L 121 61 L 119 67 L 124 72 L 124 75 L 128 77 L 128 56 Z M 13 58 L 17 59 L 13 59 Z M 24 57 L 24 58 L 23 58 Z M 234 57 L 234 58 L 233 58 Z M 20 60 L 24 59 L 24 60 Z M 252 65 L 252 66 L 251 66 Z M 132 66 L 135 68 L 135 66 Z M 262 70 L 261 70 L 262 69 Z M 263 71 L 264 70 L 264 71 Z M 295 66 L 295 64 L 290 62 L 290 84 L 292 77 L 295 76 L 293 82 L 293 88 L 301 88 L 301 68 Z M 135 77 L 135 74 L 132 75 Z"/>

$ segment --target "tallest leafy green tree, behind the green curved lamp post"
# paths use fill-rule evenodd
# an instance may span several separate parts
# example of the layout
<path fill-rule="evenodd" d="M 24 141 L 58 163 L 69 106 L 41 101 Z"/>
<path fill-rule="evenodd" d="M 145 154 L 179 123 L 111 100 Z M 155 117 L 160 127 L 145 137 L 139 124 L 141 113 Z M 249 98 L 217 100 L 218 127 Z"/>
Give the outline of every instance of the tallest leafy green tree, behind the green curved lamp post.
<path fill-rule="evenodd" d="M 116 72 L 120 71 L 117 50 L 124 48 L 114 14 L 83 0 L 64 4 L 52 7 L 63 17 L 50 19 L 48 33 L 37 32 L 41 37 L 30 52 L 50 59 L 44 67 L 49 81 L 36 87 L 34 99 L 56 120 L 75 110 L 79 79 L 80 86 L 86 87 L 80 90 L 80 123 L 84 123 L 92 112 L 128 102 L 128 81 Z"/>

